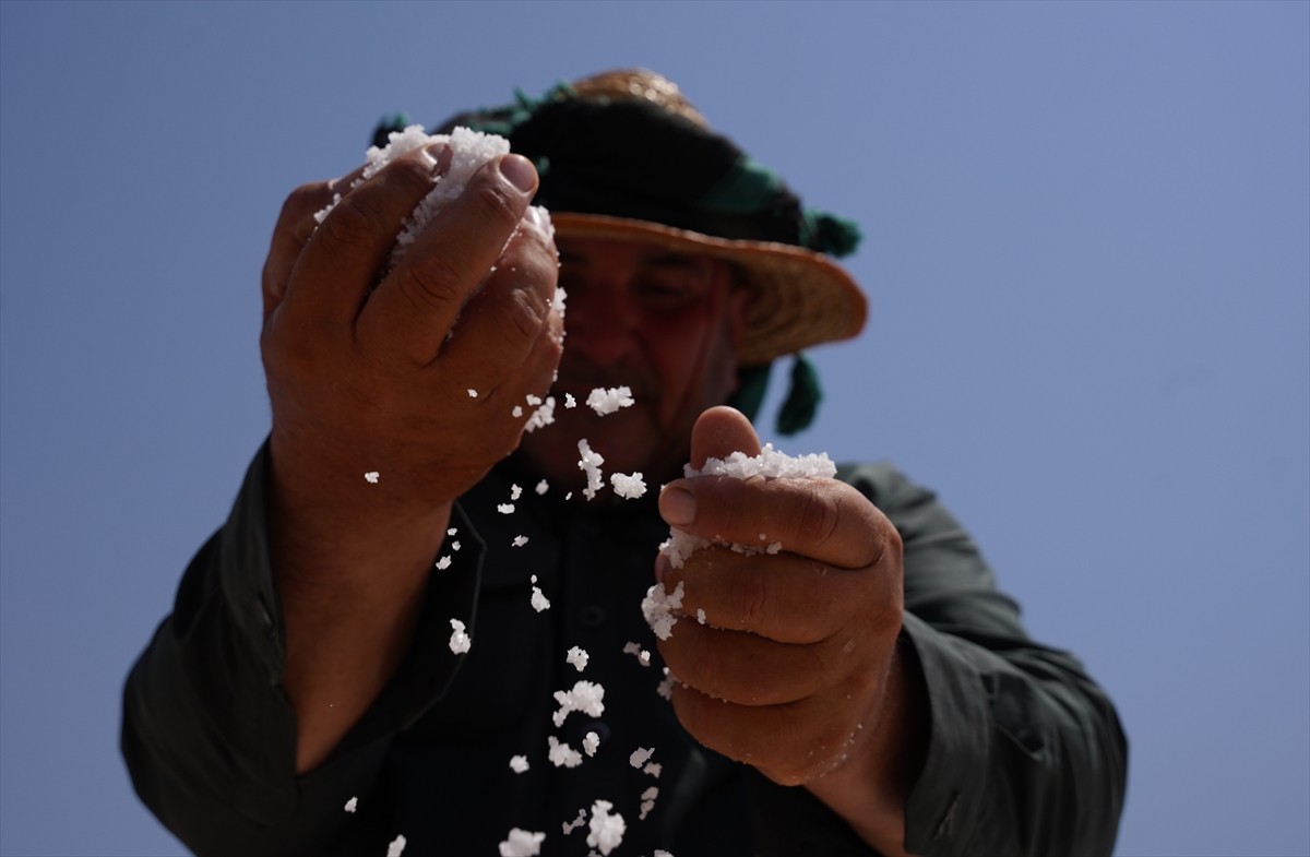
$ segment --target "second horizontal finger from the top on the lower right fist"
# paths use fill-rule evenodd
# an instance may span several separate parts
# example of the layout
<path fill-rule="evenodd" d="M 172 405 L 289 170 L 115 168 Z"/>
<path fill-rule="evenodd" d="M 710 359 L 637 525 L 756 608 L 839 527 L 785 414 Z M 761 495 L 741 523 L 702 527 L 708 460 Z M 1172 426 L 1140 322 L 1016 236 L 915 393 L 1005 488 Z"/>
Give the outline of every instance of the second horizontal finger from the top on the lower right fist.
<path fill-rule="evenodd" d="M 778 642 L 828 639 L 850 624 L 854 611 L 862 612 L 870 632 L 899 621 L 900 581 L 882 569 L 837 569 L 796 554 L 748 557 L 718 546 L 658 574 L 665 591 L 683 583 L 681 615 L 703 611 L 715 628 Z"/>

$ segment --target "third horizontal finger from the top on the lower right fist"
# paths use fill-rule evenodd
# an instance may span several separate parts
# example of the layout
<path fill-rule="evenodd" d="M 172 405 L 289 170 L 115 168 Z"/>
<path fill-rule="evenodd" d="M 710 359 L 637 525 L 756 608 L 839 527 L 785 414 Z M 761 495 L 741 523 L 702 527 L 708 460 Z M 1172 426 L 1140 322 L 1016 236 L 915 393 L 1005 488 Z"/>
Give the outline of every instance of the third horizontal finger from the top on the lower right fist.
<path fill-rule="evenodd" d="M 779 643 L 758 634 L 680 621 L 656 641 L 677 680 L 738 705 L 779 705 L 819 693 L 858 668 L 862 651 L 853 639 Z"/>

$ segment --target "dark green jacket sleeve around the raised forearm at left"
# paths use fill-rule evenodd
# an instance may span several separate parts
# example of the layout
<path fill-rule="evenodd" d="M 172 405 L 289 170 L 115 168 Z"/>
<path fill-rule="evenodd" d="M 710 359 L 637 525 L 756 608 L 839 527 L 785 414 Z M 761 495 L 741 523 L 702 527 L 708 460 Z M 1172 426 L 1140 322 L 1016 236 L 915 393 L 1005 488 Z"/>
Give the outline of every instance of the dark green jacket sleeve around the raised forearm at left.
<path fill-rule="evenodd" d="M 367 806 L 360 784 L 373 782 L 390 738 L 455 675 L 458 659 L 439 637 L 451 616 L 472 628 L 481 549 L 465 546 L 434 575 L 409 659 L 331 757 L 297 777 L 295 713 L 280 687 L 286 636 L 267 548 L 267 459 L 265 446 L 128 674 L 122 752 L 141 801 L 195 853 L 350 853 L 350 832 L 362 826 L 348 823 L 346 802 Z M 464 523 L 458 508 L 452 523 Z M 468 541 L 472 529 L 461 529 Z"/>

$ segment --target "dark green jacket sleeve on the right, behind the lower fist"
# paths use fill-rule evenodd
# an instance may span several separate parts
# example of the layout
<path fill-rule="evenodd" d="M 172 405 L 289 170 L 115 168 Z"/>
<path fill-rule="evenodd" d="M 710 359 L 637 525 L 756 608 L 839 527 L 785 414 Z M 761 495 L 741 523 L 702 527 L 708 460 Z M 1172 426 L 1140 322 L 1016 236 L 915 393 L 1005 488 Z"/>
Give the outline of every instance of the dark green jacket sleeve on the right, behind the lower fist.
<path fill-rule="evenodd" d="M 1068 653 L 1028 638 L 972 539 L 935 497 L 888 465 L 842 478 L 904 545 L 901 645 L 930 715 L 905 810 L 905 848 L 959 854 L 1108 854 L 1123 807 L 1127 740 L 1110 700 Z M 747 774 L 765 857 L 869 857 L 874 849 L 802 788 Z"/>

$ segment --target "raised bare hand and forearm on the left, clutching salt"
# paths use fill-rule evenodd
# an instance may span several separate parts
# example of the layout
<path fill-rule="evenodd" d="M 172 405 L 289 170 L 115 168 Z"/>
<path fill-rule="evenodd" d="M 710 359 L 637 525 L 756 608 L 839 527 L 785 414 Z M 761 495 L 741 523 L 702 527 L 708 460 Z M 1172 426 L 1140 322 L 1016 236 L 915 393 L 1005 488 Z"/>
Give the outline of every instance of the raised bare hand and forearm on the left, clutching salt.
<path fill-rule="evenodd" d="M 527 396 L 545 396 L 559 360 L 558 257 L 525 216 L 537 176 L 517 155 L 478 170 L 379 279 L 434 157 L 448 161 L 413 152 L 359 187 L 342 180 L 321 225 L 333 185 L 296 190 L 263 271 L 269 545 L 297 772 L 394 674 L 455 498 L 514 451 Z"/>

